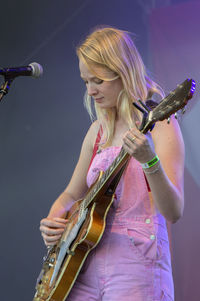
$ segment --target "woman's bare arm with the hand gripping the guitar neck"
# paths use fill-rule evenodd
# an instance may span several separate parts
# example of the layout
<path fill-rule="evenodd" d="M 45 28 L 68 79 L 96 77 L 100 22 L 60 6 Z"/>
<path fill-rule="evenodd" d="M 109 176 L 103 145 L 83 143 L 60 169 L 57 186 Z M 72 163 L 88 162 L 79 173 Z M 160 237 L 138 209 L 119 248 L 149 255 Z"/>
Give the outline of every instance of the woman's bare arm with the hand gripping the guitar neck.
<path fill-rule="evenodd" d="M 136 137 L 133 143 L 130 135 Z M 170 124 L 158 122 L 152 138 L 133 129 L 124 142 L 126 150 L 140 163 L 148 162 L 155 154 L 160 158 L 157 166 L 146 170 L 146 177 L 158 210 L 168 221 L 176 222 L 184 208 L 184 143 L 177 121 L 172 118 Z"/>

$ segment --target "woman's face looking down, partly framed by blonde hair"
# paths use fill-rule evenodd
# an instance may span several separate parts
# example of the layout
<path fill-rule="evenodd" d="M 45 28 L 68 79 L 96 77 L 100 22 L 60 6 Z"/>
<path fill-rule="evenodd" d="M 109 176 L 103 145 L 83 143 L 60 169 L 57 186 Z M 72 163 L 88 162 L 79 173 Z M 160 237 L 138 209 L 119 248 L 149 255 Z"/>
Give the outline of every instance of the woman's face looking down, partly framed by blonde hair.
<path fill-rule="evenodd" d="M 86 84 L 88 95 L 93 97 L 94 101 L 98 103 L 99 107 L 116 107 L 117 98 L 123 89 L 121 79 L 118 77 L 117 79 L 111 81 L 103 81 L 92 74 L 81 60 L 79 61 L 79 68 L 81 78 Z M 114 72 L 109 71 L 110 74 L 108 74 L 108 70 L 102 67 L 96 67 L 95 71 L 97 74 L 105 74 L 106 77 L 110 76 L 111 79 L 116 77 Z"/>

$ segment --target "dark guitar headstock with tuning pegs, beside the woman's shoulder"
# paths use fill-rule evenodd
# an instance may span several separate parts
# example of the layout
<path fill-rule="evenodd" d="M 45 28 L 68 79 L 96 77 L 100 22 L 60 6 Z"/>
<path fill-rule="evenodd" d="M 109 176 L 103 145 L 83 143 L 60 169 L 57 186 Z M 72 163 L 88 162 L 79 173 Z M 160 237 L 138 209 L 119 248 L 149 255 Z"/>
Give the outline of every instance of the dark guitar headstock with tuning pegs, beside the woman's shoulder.
<path fill-rule="evenodd" d="M 193 79 L 186 79 L 182 84 L 178 85 L 175 90 L 163 98 L 161 102 L 148 113 L 142 132 L 146 133 L 155 122 L 167 119 L 172 114 L 183 109 L 188 103 L 188 100 L 192 98 L 194 91 L 195 81 Z"/>

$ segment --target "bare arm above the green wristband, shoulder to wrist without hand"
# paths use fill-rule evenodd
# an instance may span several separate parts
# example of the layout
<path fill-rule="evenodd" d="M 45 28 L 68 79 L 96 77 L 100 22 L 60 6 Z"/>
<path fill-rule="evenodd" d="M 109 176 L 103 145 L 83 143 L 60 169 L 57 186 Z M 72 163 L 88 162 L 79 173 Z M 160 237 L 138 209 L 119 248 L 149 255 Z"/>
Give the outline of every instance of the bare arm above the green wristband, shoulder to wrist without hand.
<path fill-rule="evenodd" d="M 146 174 L 146 177 L 158 209 L 169 221 L 176 222 L 184 209 L 185 158 L 177 121 L 172 119 L 170 125 L 166 121 L 159 122 L 152 137 L 161 167 L 158 172 Z"/>

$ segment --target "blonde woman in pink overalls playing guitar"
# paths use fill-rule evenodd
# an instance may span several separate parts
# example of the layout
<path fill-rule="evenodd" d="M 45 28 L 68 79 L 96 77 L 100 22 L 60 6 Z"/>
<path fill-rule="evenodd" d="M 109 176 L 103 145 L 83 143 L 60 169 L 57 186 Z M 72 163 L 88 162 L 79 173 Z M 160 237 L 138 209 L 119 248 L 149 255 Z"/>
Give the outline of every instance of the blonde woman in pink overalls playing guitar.
<path fill-rule="evenodd" d="M 151 134 L 138 130 L 142 114 L 132 103 L 163 93 L 147 76 L 127 32 L 96 29 L 77 48 L 77 55 L 87 88 L 86 107 L 92 116 L 92 98 L 97 120 L 85 136 L 70 183 L 41 220 L 44 242 L 50 246 L 58 241 L 66 212 L 123 146 L 131 159 L 116 189 L 105 232 L 67 300 L 173 300 L 166 220 L 176 222 L 184 207 L 179 126 L 172 118 L 170 124 L 157 122 Z M 97 137 L 99 150 L 93 154 Z"/>

